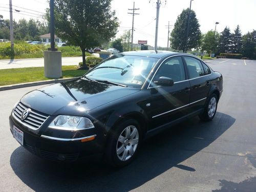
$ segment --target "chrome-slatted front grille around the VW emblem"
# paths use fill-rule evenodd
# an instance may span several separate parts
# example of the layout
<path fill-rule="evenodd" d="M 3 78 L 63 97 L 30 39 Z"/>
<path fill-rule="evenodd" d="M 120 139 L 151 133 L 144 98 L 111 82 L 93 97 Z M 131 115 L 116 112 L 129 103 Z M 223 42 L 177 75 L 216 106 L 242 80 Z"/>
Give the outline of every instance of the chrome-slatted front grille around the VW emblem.
<path fill-rule="evenodd" d="M 19 102 L 13 110 L 12 115 L 20 123 L 28 126 L 30 129 L 37 130 L 49 116 L 44 113 L 35 112 L 34 110 L 30 109 L 28 116 L 24 120 L 22 120 L 22 114 L 24 110 L 28 109 L 29 108 L 27 106 Z"/>

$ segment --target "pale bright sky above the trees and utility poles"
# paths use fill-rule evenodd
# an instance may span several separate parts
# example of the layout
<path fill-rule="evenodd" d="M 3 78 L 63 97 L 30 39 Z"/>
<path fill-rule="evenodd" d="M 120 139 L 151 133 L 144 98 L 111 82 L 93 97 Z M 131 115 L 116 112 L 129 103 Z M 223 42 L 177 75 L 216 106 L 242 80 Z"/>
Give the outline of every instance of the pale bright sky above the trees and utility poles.
<path fill-rule="evenodd" d="M 116 16 L 120 22 L 116 37 L 121 36 L 125 30 L 132 29 L 132 14 L 128 14 L 128 12 L 131 12 L 128 9 L 133 8 L 133 2 L 135 2 L 135 8 L 139 8 L 139 10 L 135 11 L 139 15 L 134 17 L 134 43 L 138 42 L 138 40 L 147 40 L 148 45 L 154 46 L 157 0 L 113 0 L 112 9 L 116 11 Z M 174 25 L 182 10 L 189 8 L 190 0 L 161 0 L 160 2 L 157 45 L 167 47 L 168 29 L 166 26 L 168 21 L 170 25 Z M 13 7 L 13 9 L 20 10 L 19 13 L 33 15 L 32 17 L 14 12 L 13 18 L 15 20 L 20 18 L 39 19 L 36 16 L 40 17 L 39 15 L 44 13 L 45 9 L 49 7 L 47 0 L 12 0 L 12 5 L 17 6 Z M 0 1 L 0 14 L 4 18 L 10 17 L 8 6 L 9 0 Z M 240 26 L 242 34 L 248 31 L 251 32 L 253 29 L 256 30 L 256 0 L 193 0 L 191 2 L 191 9 L 196 12 L 202 33 L 214 30 L 216 22 L 219 22 L 216 28 L 216 31 L 219 33 L 226 26 L 233 32 L 237 25 Z M 172 29 L 171 26 L 170 31 Z"/>

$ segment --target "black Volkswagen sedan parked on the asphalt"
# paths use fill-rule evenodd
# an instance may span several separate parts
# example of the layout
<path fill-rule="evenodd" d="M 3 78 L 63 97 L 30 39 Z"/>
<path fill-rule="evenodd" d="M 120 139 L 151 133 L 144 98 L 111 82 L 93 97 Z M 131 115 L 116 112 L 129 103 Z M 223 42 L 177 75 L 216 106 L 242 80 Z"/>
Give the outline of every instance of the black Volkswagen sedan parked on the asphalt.
<path fill-rule="evenodd" d="M 119 53 L 81 78 L 24 95 L 10 115 L 10 129 L 45 159 L 103 154 L 123 166 L 148 136 L 192 116 L 212 120 L 222 83 L 220 73 L 190 54 Z"/>

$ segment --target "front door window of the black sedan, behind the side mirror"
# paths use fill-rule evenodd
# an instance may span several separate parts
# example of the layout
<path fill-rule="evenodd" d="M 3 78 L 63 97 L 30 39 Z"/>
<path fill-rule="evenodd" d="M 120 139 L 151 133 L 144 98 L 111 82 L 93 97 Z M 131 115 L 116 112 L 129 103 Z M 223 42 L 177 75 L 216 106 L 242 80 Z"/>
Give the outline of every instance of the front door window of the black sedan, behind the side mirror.
<path fill-rule="evenodd" d="M 185 80 L 185 71 L 181 57 L 172 57 L 165 60 L 158 71 L 152 82 L 157 81 L 159 77 L 172 78 L 174 82 Z M 153 87 L 154 84 L 152 84 Z"/>

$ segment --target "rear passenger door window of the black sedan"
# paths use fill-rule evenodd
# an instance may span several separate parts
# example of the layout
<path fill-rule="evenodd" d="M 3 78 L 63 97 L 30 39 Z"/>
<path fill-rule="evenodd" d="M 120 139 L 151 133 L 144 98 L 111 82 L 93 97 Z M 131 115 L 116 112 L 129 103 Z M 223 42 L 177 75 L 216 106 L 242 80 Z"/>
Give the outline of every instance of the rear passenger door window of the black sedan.
<path fill-rule="evenodd" d="M 200 60 L 193 57 L 184 57 L 190 79 L 204 75 L 204 69 Z"/>

